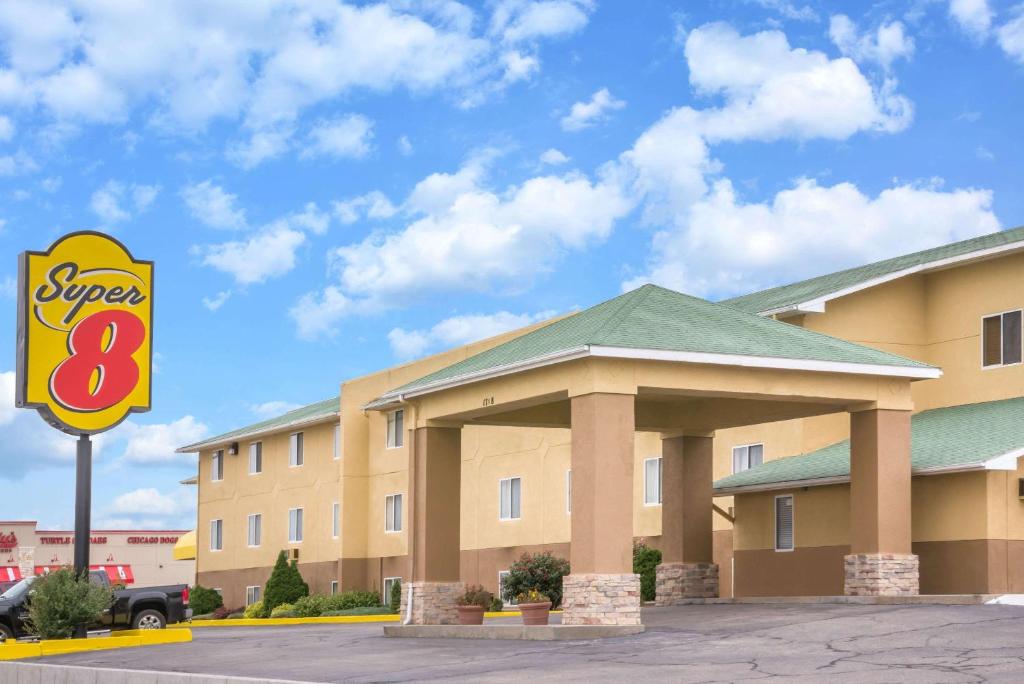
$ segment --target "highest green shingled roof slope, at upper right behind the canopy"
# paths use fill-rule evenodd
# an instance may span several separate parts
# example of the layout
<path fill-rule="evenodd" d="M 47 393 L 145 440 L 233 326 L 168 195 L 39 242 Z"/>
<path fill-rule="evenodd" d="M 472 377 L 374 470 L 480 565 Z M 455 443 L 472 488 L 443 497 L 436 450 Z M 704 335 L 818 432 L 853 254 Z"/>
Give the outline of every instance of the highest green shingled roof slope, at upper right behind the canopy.
<path fill-rule="evenodd" d="M 826 297 L 841 290 L 853 288 L 862 283 L 906 268 L 922 266 L 933 261 L 1020 242 L 1024 242 L 1024 227 L 993 232 L 981 236 L 980 238 L 972 238 L 971 240 L 952 243 L 951 245 L 943 245 L 930 250 L 869 263 L 866 266 L 857 266 L 856 268 L 819 275 L 818 277 L 812 277 L 808 281 L 801 281 L 792 285 L 762 290 L 761 292 L 743 295 L 742 297 L 726 299 L 722 303 L 753 313 L 777 311 L 796 306 L 797 304 L 813 301 L 819 297 Z"/>

